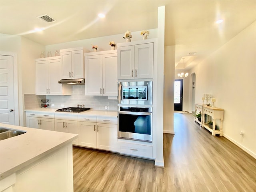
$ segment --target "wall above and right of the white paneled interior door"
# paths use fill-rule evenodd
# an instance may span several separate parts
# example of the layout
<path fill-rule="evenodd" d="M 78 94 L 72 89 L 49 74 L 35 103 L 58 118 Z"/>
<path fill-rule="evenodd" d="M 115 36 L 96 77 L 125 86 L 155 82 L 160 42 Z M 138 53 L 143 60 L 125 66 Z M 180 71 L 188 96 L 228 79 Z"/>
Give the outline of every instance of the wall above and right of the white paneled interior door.
<path fill-rule="evenodd" d="M 24 93 L 35 92 L 35 58 L 44 45 L 21 36 L 0 34 L 0 50 L 18 55 L 18 103 L 20 126 L 24 125 Z"/>

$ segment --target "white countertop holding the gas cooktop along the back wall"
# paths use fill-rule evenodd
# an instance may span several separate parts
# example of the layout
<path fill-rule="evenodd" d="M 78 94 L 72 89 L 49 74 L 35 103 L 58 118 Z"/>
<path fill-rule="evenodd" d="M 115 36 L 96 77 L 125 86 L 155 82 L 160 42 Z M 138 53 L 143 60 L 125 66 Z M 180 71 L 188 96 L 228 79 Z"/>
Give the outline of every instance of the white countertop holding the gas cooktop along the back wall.
<path fill-rule="evenodd" d="M 56 108 L 34 108 L 34 109 L 26 109 L 28 112 L 46 112 L 52 114 L 66 114 L 66 115 L 84 115 L 84 116 L 102 116 L 102 117 L 117 117 L 117 111 L 104 111 L 104 110 L 87 110 L 80 113 L 72 113 L 72 112 L 58 112 Z"/>

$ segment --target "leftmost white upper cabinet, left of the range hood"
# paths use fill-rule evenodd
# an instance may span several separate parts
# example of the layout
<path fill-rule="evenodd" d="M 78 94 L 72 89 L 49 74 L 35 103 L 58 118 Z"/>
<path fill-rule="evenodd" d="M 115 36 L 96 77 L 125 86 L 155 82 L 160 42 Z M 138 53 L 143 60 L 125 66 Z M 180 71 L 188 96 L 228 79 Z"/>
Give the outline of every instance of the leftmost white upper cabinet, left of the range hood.
<path fill-rule="evenodd" d="M 59 84 L 61 80 L 60 57 L 36 59 L 36 94 L 71 95 L 70 85 Z"/>

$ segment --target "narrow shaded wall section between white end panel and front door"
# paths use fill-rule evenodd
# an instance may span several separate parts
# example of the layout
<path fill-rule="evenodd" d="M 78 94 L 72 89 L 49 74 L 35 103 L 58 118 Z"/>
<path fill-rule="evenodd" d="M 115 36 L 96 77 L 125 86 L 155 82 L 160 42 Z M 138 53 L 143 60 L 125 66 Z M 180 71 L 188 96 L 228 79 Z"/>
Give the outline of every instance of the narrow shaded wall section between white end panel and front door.
<path fill-rule="evenodd" d="M 164 47 L 164 133 L 174 134 L 175 46 Z"/>

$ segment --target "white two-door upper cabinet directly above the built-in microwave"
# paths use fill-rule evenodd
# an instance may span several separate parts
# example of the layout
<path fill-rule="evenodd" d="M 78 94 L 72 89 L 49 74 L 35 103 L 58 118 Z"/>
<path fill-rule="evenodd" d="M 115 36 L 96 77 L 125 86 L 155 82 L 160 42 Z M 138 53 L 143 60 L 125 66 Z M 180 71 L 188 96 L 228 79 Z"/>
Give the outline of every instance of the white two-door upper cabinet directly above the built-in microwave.
<path fill-rule="evenodd" d="M 118 79 L 153 78 L 154 43 L 120 45 L 118 46 Z"/>

